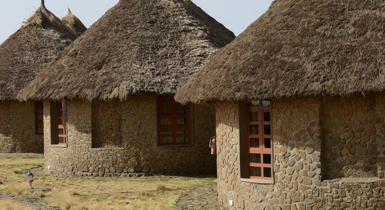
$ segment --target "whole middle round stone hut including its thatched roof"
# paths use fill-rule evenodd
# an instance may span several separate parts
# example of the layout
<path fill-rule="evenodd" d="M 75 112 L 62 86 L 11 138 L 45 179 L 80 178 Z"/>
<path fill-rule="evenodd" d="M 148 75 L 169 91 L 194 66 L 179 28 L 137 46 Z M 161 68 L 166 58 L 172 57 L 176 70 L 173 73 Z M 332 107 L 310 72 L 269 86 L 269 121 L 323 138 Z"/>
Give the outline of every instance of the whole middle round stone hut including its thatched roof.
<path fill-rule="evenodd" d="M 233 38 L 190 0 L 120 0 L 19 94 L 44 100 L 46 171 L 215 173 L 213 104 L 173 95 Z"/>

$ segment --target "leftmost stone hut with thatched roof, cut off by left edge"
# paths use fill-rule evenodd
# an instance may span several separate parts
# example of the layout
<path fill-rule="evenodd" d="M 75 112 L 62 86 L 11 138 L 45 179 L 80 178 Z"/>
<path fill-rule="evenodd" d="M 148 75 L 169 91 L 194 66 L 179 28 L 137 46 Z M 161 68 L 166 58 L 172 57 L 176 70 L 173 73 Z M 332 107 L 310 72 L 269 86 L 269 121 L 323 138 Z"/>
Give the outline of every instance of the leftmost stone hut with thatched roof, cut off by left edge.
<path fill-rule="evenodd" d="M 43 103 L 16 95 L 76 37 L 42 1 L 0 45 L 0 153 L 43 152 Z"/>

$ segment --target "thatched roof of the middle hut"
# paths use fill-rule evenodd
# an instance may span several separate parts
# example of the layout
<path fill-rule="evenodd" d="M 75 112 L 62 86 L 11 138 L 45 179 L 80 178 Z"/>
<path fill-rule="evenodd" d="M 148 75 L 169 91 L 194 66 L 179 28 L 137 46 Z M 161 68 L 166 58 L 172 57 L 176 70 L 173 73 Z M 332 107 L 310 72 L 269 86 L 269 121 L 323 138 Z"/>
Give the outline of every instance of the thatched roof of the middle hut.
<path fill-rule="evenodd" d="M 120 0 L 20 99 L 174 94 L 234 34 L 190 0 Z"/>

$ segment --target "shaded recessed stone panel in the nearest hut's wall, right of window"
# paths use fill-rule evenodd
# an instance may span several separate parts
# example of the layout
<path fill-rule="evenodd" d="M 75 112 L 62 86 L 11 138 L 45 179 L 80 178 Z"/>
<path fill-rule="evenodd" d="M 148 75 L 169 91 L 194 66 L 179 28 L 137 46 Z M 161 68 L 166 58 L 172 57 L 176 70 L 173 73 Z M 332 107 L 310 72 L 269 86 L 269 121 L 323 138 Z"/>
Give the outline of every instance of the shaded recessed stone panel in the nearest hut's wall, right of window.
<path fill-rule="evenodd" d="M 322 101 L 324 179 L 377 176 L 374 99 L 355 95 Z"/>

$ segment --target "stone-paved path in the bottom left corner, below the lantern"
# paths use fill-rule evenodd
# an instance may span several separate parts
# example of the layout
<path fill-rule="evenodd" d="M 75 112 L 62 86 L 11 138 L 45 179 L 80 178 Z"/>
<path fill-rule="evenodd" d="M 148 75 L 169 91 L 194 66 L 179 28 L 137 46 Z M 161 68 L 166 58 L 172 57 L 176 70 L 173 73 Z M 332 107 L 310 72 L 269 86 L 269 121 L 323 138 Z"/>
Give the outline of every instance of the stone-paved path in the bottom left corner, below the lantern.
<path fill-rule="evenodd" d="M 53 207 L 45 203 L 39 202 L 38 198 L 35 196 L 22 196 L 18 194 L 0 191 L 0 200 L 11 200 L 12 202 L 15 202 L 17 204 L 28 206 L 36 210 L 60 210 L 60 208 L 58 207 Z"/>

